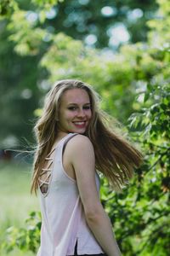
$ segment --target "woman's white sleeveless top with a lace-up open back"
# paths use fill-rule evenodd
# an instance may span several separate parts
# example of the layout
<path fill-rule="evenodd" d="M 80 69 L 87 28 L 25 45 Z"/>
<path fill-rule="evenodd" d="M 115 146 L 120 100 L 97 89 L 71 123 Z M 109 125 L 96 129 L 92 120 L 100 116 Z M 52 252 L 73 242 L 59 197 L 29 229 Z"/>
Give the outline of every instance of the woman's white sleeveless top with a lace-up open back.
<path fill-rule="evenodd" d="M 42 229 L 37 256 L 74 255 L 76 242 L 78 255 L 103 253 L 86 223 L 77 182 L 67 175 L 62 164 L 64 146 L 76 135 L 69 133 L 62 138 L 54 148 L 53 159 L 47 158 L 51 160 L 51 169 L 47 194 L 39 189 Z M 97 172 L 96 184 L 99 190 Z"/>

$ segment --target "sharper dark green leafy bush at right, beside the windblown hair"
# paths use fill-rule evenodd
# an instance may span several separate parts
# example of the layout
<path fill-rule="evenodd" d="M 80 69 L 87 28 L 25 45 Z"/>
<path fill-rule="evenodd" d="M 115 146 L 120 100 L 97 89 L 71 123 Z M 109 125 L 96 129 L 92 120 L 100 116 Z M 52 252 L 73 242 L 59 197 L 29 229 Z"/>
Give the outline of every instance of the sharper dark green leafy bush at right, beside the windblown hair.
<path fill-rule="evenodd" d="M 148 93 L 148 106 L 130 118 L 133 138 L 143 147 L 144 165 L 123 195 L 105 201 L 126 255 L 133 255 L 127 253 L 132 248 L 134 255 L 168 255 L 169 251 L 170 90 L 167 84 L 152 84 L 145 90 Z"/>

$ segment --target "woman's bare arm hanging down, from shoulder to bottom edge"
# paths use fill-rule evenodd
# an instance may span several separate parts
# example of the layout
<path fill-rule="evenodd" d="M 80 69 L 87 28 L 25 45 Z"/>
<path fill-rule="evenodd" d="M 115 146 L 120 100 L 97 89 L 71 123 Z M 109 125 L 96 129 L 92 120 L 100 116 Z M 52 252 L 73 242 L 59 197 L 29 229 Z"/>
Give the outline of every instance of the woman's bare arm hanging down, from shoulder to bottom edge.
<path fill-rule="evenodd" d="M 67 156 L 73 166 L 77 186 L 90 230 L 108 256 L 120 256 L 111 221 L 99 200 L 95 182 L 94 147 L 88 137 L 77 135 L 67 145 Z"/>

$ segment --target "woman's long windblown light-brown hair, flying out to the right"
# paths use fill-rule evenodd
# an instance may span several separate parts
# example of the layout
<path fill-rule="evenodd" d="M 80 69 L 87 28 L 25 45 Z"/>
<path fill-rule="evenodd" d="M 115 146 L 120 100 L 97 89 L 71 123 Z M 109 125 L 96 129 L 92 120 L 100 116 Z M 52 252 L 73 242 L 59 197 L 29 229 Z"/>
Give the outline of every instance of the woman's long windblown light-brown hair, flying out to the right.
<path fill-rule="evenodd" d="M 34 131 L 37 137 L 37 151 L 34 157 L 31 192 L 37 192 L 38 177 L 47 154 L 53 147 L 59 128 L 59 106 L 65 90 L 79 88 L 86 90 L 91 103 L 92 118 L 84 134 L 94 145 L 96 169 L 108 178 L 115 189 L 133 177 L 133 169 L 142 161 L 142 154 L 116 131 L 111 131 L 109 116 L 99 109 L 99 96 L 89 84 L 79 80 L 61 80 L 54 84 L 45 99 L 42 116 L 37 120 Z"/>

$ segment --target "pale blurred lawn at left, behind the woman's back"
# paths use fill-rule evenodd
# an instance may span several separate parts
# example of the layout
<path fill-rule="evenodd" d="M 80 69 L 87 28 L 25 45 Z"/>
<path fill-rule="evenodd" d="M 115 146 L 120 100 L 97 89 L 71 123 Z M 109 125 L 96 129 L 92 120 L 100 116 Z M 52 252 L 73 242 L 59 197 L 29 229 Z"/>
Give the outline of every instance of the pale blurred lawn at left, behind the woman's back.
<path fill-rule="evenodd" d="M 0 161 L 0 245 L 5 240 L 5 231 L 10 226 L 23 227 L 29 212 L 39 211 L 39 201 L 30 195 L 31 166 L 18 161 Z M 32 256 L 15 250 L 1 256 Z"/>

